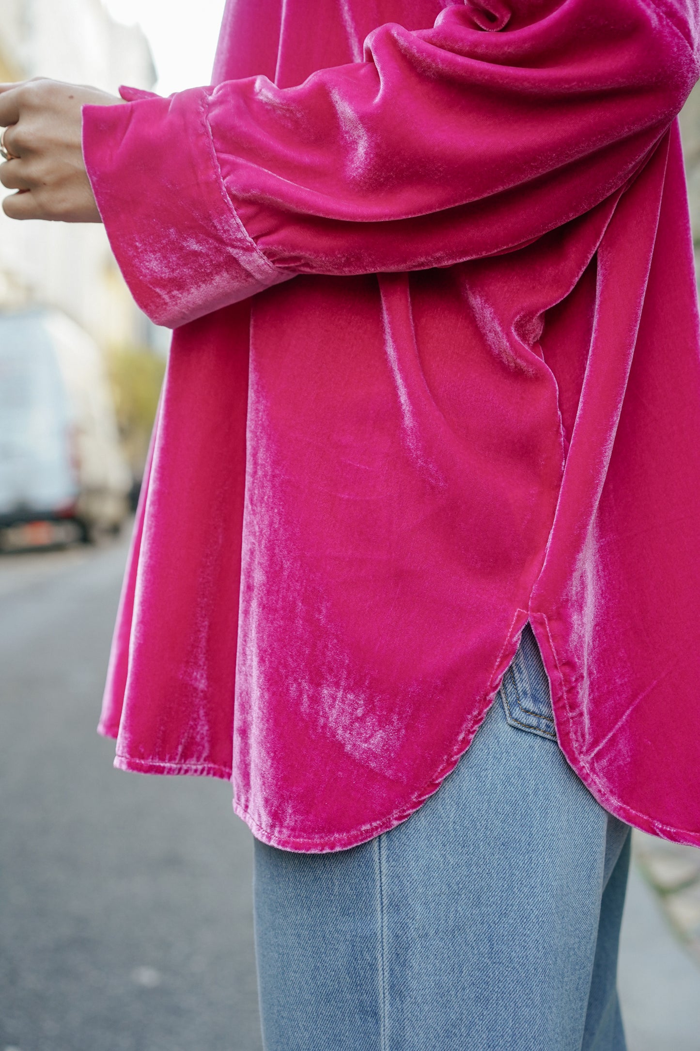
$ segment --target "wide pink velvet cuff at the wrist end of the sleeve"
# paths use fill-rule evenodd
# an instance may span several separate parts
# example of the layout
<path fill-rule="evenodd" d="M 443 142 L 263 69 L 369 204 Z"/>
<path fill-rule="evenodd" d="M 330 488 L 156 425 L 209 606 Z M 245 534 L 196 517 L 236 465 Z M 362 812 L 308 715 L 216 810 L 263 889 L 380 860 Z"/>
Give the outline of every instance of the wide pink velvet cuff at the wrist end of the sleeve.
<path fill-rule="evenodd" d="M 120 269 L 141 309 L 174 328 L 294 276 L 256 247 L 227 194 L 207 88 L 83 108 L 83 156 Z"/>

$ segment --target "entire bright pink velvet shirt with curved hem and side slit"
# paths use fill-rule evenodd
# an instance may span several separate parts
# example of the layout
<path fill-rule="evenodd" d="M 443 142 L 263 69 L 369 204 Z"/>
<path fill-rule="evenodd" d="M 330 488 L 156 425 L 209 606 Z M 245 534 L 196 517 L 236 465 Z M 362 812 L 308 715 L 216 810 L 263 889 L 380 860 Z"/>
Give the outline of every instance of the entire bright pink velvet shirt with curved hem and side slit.
<path fill-rule="evenodd" d="M 86 107 L 175 328 L 101 730 L 274 846 L 407 818 L 529 620 L 564 753 L 700 845 L 696 0 L 230 0 L 215 86 Z"/>

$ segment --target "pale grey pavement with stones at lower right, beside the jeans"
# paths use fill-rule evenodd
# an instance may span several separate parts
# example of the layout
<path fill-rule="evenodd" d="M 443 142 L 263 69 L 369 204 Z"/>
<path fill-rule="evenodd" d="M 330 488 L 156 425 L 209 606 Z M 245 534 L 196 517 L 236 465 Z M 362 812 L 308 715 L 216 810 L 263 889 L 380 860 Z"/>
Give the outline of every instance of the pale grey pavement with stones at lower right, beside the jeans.
<path fill-rule="evenodd" d="M 629 1051 L 700 1051 L 700 962 L 671 926 L 681 924 L 687 939 L 697 934 L 692 921 L 698 884 L 692 866 L 700 861 L 700 851 L 688 854 L 687 848 L 670 845 L 671 850 L 661 848 L 663 859 L 650 861 L 656 844 L 648 840 L 635 832 L 636 860 L 620 943 L 619 990 Z M 662 894 L 642 877 L 642 866 Z"/>

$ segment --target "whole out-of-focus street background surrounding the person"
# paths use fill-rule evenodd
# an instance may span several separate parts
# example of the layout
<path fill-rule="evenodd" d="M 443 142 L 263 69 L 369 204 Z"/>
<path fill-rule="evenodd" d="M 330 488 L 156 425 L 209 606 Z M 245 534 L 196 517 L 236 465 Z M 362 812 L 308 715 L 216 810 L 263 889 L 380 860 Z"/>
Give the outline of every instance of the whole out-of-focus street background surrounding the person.
<path fill-rule="evenodd" d="M 222 7 L 0 0 L 0 81 L 208 83 Z M 102 227 L 0 214 L 0 1051 L 261 1049 L 230 787 L 94 734 L 168 338 Z M 700 851 L 635 837 L 620 989 L 630 1051 L 700 1051 Z"/>

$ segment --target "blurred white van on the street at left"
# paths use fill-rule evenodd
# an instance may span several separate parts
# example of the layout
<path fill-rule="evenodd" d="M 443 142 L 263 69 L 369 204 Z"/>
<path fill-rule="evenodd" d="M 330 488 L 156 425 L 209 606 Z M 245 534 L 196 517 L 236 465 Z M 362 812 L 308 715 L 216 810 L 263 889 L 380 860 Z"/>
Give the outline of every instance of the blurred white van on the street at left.
<path fill-rule="evenodd" d="M 130 488 L 97 344 L 55 310 L 0 314 L 0 548 L 116 532 Z"/>

